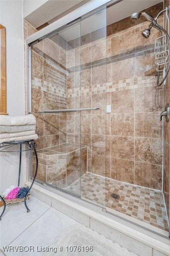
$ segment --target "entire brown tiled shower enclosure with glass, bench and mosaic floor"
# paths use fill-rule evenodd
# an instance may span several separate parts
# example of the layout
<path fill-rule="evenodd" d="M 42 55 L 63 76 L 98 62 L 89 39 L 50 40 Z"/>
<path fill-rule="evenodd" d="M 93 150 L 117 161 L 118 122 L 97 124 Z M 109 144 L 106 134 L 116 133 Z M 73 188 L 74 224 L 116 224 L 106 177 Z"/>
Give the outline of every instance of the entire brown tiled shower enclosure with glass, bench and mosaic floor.
<path fill-rule="evenodd" d="M 163 86 L 146 74 L 155 66 L 159 31 L 145 39 L 148 22 L 131 21 L 130 14 L 114 20 L 120 1 L 99 2 L 27 40 L 28 109 L 39 135 L 37 182 L 168 236 Z M 162 9 L 161 2 L 147 12 L 156 16 Z M 29 170 L 31 179 L 34 155 Z"/>

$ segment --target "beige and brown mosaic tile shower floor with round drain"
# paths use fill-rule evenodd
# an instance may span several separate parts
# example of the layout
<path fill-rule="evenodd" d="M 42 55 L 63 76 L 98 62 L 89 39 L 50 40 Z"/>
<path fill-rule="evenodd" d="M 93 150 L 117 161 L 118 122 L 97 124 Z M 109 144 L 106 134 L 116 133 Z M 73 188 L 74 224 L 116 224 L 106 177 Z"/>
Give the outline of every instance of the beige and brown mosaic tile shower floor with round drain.
<path fill-rule="evenodd" d="M 80 181 L 76 181 L 67 191 L 75 193 L 79 189 Z M 120 199 L 112 198 L 111 193 L 117 193 Z M 81 197 L 104 206 L 105 178 L 87 172 L 81 177 Z M 169 231 L 162 192 L 106 178 L 106 206 Z"/>

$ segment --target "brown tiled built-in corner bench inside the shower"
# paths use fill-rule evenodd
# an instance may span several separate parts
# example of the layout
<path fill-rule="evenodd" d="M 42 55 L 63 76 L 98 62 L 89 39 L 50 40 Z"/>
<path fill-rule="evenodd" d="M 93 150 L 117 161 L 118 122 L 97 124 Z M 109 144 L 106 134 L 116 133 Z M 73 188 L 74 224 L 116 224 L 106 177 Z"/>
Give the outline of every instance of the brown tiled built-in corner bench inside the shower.
<path fill-rule="evenodd" d="M 66 188 L 87 172 L 87 146 L 63 143 L 37 150 L 37 179 L 58 188 Z M 36 168 L 33 155 L 33 174 Z"/>

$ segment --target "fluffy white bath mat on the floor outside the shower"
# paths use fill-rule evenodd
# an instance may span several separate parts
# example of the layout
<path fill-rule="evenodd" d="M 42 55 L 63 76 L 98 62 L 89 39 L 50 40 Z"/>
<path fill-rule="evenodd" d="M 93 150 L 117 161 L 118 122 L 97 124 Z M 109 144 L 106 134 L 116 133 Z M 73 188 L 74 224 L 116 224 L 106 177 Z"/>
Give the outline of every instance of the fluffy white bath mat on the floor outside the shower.
<path fill-rule="evenodd" d="M 66 248 L 67 246 L 68 252 Z M 74 246 L 77 246 L 76 250 Z M 92 246 L 93 251 L 89 250 L 87 252 L 86 246 Z M 46 256 L 137 256 L 136 254 L 121 247 L 119 244 L 113 243 L 111 240 L 106 239 L 104 236 L 99 235 L 97 232 L 85 227 L 82 224 L 71 225 L 67 229 L 63 230 L 57 237 L 56 242 L 54 242 L 52 247 L 57 248 L 57 253 L 55 254 L 54 252 L 48 252 L 45 254 Z M 59 251 L 60 247 L 63 247 L 62 252 Z"/>

